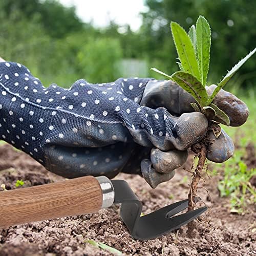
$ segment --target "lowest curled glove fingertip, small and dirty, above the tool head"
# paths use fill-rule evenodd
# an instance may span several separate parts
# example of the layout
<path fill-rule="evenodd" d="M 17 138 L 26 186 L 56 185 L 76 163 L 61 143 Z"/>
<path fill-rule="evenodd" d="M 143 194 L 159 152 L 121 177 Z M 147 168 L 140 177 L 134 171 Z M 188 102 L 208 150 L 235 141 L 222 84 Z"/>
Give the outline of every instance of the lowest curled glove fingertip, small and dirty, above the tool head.
<path fill-rule="evenodd" d="M 150 159 L 143 159 L 141 161 L 141 173 L 145 181 L 152 187 L 157 187 L 158 184 L 172 179 L 175 175 L 175 171 L 168 174 L 158 173 L 152 166 Z"/>

